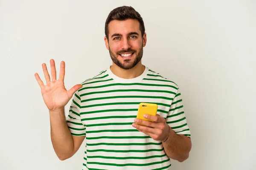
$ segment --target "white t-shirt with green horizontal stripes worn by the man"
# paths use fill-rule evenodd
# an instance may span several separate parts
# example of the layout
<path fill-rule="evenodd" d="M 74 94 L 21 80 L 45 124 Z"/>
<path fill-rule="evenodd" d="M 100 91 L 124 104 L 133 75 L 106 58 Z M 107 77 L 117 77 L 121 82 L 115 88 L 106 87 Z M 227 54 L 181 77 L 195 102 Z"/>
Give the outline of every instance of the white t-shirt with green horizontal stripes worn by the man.
<path fill-rule="evenodd" d="M 132 127 L 141 102 L 178 134 L 190 137 L 178 86 L 145 67 L 139 77 L 122 79 L 110 68 L 87 79 L 73 96 L 67 125 L 86 136 L 83 170 L 167 170 L 171 161 L 161 141 Z"/>

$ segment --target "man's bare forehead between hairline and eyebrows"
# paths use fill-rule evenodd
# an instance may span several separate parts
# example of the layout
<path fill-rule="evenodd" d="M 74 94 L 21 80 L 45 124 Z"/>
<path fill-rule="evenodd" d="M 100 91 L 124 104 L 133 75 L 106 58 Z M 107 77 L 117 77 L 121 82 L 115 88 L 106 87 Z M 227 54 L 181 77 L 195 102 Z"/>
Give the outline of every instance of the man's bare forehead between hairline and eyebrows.
<path fill-rule="evenodd" d="M 138 20 L 128 19 L 128 20 L 112 20 L 108 24 L 108 31 L 109 36 L 112 34 L 128 34 L 130 32 L 137 32 L 138 34 L 141 34 L 140 32 L 140 22 Z"/>

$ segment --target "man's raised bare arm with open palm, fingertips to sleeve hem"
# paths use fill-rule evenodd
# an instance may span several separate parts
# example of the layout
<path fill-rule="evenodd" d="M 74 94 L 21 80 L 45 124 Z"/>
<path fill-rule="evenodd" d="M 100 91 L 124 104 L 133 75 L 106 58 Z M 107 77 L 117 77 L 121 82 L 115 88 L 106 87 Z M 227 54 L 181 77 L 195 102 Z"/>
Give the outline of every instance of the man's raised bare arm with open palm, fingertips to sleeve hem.
<path fill-rule="evenodd" d="M 44 103 L 49 109 L 53 148 L 58 158 L 64 160 L 76 153 L 85 138 L 85 136 L 78 137 L 71 135 L 64 114 L 64 106 L 67 105 L 73 94 L 78 91 L 82 85 L 75 85 L 67 91 L 64 86 L 65 62 L 61 62 L 59 79 L 56 79 L 56 68 L 53 59 L 50 60 L 50 65 L 52 81 L 45 63 L 42 64 L 42 68 L 46 85 L 44 85 L 44 82 L 37 73 L 35 73 L 35 78 L 41 88 Z"/>

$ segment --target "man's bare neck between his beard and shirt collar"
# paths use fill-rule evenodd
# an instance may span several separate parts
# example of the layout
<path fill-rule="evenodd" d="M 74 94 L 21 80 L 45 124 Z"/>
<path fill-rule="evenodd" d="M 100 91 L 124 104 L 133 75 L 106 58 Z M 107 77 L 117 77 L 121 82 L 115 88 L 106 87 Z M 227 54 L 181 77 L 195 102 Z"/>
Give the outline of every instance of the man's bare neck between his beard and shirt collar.
<path fill-rule="evenodd" d="M 134 68 L 125 70 L 117 66 L 115 63 L 111 65 L 110 70 L 113 74 L 115 74 L 117 77 L 120 77 L 122 79 L 133 79 L 135 77 L 139 77 L 141 74 L 143 74 L 145 70 L 145 66 L 142 65 L 141 61 L 134 66 Z"/>

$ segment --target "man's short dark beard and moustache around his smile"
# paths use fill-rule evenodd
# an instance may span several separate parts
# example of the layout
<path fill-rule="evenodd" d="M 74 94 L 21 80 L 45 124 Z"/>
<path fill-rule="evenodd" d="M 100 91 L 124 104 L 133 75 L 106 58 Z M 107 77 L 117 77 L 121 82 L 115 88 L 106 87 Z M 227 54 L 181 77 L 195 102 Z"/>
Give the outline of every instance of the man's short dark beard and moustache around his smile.
<path fill-rule="evenodd" d="M 117 58 L 119 57 L 120 53 L 125 53 L 125 52 L 131 52 L 134 53 L 133 56 L 134 57 L 134 62 L 131 62 L 131 59 L 124 59 L 124 63 L 122 64 L 122 62 L 120 62 Z M 121 50 L 121 51 L 117 51 L 116 54 L 113 53 L 113 51 L 111 51 L 111 49 L 109 48 L 109 54 L 110 57 L 112 59 L 112 61 L 119 66 L 122 69 L 128 70 L 131 68 L 134 68 L 135 65 L 138 64 L 138 62 L 140 62 L 140 60 L 142 59 L 143 56 L 143 46 L 141 46 L 141 48 L 139 49 L 139 51 L 137 52 L 136 50 L 132 50 L 131 48 L 128 48 L 127 50 Z"/>

